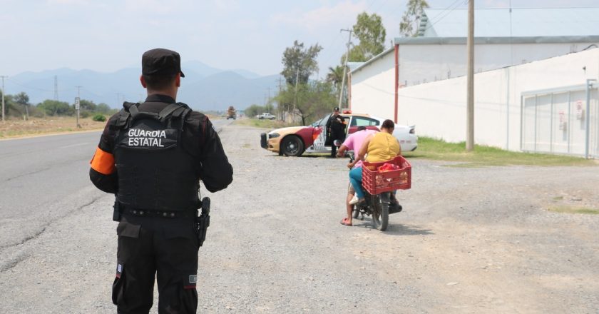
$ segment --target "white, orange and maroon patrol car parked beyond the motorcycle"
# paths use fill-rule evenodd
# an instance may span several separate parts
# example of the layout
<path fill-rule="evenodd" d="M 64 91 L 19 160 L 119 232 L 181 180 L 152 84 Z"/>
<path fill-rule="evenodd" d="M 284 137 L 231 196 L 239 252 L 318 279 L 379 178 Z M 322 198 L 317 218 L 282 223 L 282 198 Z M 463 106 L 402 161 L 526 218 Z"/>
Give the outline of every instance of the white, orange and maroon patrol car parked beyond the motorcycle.
<path fill-rule="evenodd" d="M 385 121 L 384 118 L 370 116 L 369 114 L 352 113 L 343 111 L 341 114 L 347 123 L 347 135 L 357 131 L 359 126 L 366 126 L 373 130 L 379 130 L 379 126 Z M 260 134 L 260 146 L 286 156 L 301 156 L 302 153 L 330 153 L 331 146 L 327 143 L 327 114 L 324 118 L 312 123 L 311 126 L 291 126 L 289 128 L 277 128 L 269 133 Z M 415 126 L 395 125 L 393 135 L 401 144 L 401 151 L 414 151 L 418 147 L 418 136 Z"/>

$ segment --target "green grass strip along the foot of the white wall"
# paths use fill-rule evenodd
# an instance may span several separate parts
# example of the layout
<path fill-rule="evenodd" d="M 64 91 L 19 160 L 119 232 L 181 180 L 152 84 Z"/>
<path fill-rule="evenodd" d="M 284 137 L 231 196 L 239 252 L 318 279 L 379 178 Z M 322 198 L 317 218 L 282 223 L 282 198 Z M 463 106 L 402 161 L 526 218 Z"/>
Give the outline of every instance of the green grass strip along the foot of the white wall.
<path fill-rule="evenodd" d="M 459 162 L 456 167 L 481 166 L 597 166 L 597 162 L 584 158 L 549 155 L 543 153 L 519 153 L 491 146 L 475 145 L 466 151 L 466 143 L 447 143 L 429 137 L 418 138 L 416 151 L 405 152 L 406 158 L 425 158 L 439 161 Z"/>

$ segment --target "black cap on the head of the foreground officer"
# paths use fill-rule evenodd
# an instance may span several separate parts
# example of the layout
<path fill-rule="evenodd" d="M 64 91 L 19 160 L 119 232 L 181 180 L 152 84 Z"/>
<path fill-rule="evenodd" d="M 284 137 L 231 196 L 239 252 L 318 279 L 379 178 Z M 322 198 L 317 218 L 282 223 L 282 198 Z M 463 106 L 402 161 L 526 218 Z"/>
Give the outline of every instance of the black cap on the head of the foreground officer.
<path fill-rule="evenodd" d="M 143 75 L 174 75 L 181 72 L 181 56 L 178 52 L 168 49 L 152 49 L 145 51 L 141 57 L 141 74 Z"/>

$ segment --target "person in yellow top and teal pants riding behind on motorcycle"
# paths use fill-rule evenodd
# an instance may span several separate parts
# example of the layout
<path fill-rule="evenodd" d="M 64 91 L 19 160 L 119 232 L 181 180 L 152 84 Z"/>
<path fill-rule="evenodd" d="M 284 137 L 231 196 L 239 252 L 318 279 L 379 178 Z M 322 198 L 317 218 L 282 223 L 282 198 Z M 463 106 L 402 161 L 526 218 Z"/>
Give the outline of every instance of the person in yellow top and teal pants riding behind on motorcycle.
<path fill-rule="evenodd" d="M 381 131 L 369 135 L 362 143 L 356 159 L 349 163 L 348 167 L 354 167 L 359 161 L 365 160 L 370 163 L 390 161 L 396 156 L 401 155 L 401 146 L 399 141 L 393 136 L 395 123 L 389 119 L 381 125 Z M 364 159 L 366 156 L 366 159 Z M 362 167 L 352 168 L 349 171 L 349 182 L 352 183 L 356 195 L 349 201 L 350 204 L 361 203 L 364 201 L 364 191 L 362 190 Z"/>

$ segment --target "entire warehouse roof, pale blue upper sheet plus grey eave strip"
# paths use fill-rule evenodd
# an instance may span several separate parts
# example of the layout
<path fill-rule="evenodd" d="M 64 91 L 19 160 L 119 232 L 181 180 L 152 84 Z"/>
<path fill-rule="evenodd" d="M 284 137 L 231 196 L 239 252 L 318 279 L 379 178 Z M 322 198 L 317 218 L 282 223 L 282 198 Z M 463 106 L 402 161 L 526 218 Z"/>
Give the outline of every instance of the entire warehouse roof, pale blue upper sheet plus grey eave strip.
<path fill-rule="evenodd" d="M 393 44 L 466 44 L 467 9 L 424 9 L 417 37 L 396 37 Z M 475 9 L 475 44 L 558 44 L 599 41 L 599 6 L 587 8 Z M 394 51 L 356 63 L 356 73 Z M 349 63 L 348 63 L 349 64 Z"/>

